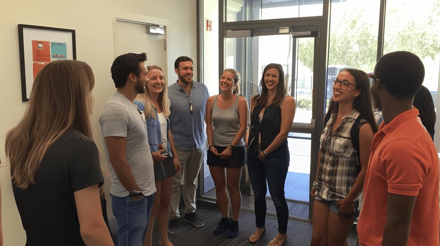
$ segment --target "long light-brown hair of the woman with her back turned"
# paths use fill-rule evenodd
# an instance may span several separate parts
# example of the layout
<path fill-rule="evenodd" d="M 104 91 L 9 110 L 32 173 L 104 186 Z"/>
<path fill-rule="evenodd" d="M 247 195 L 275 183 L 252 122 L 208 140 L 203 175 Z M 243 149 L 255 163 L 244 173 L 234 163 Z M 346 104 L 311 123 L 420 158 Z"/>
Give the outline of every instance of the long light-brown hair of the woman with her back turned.
<path fill-rule="evenodd" d="M 37 74 L 25 115 L 6 135 L 6 156 L 17 187 L 35 183 L 44 154 L 66 130 L 92 137 L 89 96 L 94 86 L 92 69 L 83 61 L 53 61 Z"/>

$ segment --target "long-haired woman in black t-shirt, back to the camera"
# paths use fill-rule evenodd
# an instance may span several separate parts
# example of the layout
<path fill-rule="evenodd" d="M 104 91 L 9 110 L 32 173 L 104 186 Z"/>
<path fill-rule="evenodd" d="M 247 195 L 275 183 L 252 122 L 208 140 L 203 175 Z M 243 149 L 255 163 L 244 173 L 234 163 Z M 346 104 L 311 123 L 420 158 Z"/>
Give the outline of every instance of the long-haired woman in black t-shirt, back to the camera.
<path fill-rule="evenodd" d="M 92 140 L 95 79 L 82 61 L 46 65 L 24 117 L 6 136 L 26 245 L 114 245 L 99 201 L 103 175 Z"/>

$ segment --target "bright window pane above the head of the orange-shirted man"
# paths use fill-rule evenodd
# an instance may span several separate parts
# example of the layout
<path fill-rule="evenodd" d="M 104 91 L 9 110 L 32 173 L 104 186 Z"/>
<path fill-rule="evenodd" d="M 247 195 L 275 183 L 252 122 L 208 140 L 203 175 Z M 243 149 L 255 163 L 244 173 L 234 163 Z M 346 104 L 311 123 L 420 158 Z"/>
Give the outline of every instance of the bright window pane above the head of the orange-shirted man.
<path fill-rule="evenodd" d="M 384 54 L 409 51 L 425 66 L 423 85 L 437 105 L 440 68 L 440 0 L 387 0 Z"/>

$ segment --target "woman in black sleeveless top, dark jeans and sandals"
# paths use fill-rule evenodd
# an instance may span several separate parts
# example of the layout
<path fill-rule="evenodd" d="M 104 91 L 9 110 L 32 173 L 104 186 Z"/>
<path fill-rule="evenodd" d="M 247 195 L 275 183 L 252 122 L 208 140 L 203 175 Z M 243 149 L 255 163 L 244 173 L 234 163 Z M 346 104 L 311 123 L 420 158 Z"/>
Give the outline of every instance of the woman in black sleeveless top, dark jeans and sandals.
<path fill-rule="evenodd" d="M 287 95 L 282 65 L 271 63 L 264 68 L 260 91 L 251 98 L 250 112 L 247 159 L 255 195 L 257 230 L 249 237 L 249 242 L 258 242 L 266 232 L 267 181 L 278 218 L 278 234 L 268 246 L 282 246 L 287 240 L 289 220 L 284 196 L 290 162 L 287 135 L 295 116 L 295 99 Z"/>

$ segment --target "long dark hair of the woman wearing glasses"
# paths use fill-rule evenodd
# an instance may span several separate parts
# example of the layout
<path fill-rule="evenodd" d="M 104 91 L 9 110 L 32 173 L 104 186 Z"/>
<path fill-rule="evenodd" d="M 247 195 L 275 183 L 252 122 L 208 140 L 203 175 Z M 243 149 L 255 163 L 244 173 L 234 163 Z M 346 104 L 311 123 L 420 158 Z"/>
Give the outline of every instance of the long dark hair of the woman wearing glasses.
<path fill-rule="evenodd" d="M 376 120 L 373 114 L 373 103 L 372 96 L 370 92 L 370 80 L 368 79 L 367 73 L 359 69 L 343 69 L 342 71 L 349 72 L 356 80 L 356 89 L 360 90 L 359 96 L 353 101 L 353 109 L 359 111 L 360 115 L 364 119 L 367 119 L 370 123 L 373 133 L 378 132 L 378 126 L 376 125 Z M 337 114 L 339 110 L 339 102 L 333 101 L 333 97 L 330 99 L 329 109 L 324 116 L 324 123 L 327 123 L 330 119 L 332 113 Z"/>

